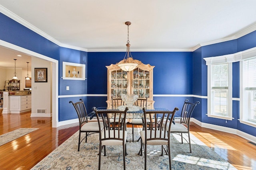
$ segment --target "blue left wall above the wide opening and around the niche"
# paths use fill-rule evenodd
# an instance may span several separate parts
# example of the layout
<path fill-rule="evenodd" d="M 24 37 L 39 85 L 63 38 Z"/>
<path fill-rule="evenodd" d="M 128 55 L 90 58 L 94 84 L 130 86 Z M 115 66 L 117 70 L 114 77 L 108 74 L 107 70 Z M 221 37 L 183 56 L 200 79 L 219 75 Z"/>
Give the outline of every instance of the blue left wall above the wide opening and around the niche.
<path fill-rule="evenodd" d="M 0 13 L 0 23 L 1 40 L 59 61 L 59 95 L 87 94 L 86 81 L 62 80 L 62 78 L 60 78 L 62 76 L 62 61 L 87 64 L 87 52 L 59 47 L 55 43 L 52 43 L 20 23 L 6 17 L 2 13 Z M 66 86 L 70 86 L 69 91 L 66 90 Z M 76 98 L 59 99 L 59 121 L 77 118 L 74 108 L 72 108 L 73 106 L 66 102 L 66 100 L 76 101 L 75 99 Z M 86 100 L 87 99 L 84 98 L 85 102 Z"/>

